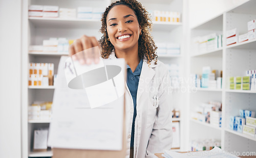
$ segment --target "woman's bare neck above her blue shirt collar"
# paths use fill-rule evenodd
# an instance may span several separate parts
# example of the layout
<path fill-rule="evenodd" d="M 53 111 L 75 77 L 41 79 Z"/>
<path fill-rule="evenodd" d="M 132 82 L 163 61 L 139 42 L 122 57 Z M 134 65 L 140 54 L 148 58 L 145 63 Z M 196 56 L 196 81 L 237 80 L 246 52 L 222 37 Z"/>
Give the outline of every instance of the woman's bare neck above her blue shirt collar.
<path fill-rule="evenodd" d="M 117 58 L 124 58 L 127 64 L 131 67 L 133 72 L 140 63 L 138 47 L 134 47 L 133 49 L 129 50 L 115 49 L 115 54 Z"/>

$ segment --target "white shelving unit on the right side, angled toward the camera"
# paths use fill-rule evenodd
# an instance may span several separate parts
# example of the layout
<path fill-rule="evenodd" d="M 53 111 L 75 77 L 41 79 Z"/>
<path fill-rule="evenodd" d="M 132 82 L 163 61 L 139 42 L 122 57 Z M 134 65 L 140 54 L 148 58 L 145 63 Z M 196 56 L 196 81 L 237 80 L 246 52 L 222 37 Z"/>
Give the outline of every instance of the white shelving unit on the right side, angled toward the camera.
<path fill-rule="evenodd" d="M 188 110 L 192 111 L 195 104 L 211 100 L 215 95 L 215 99 L 222 101 L 222 127 L 217 128 L 218 132 L 212 133 L 208 127 L 210 124 L 191 120 L 189 118 L 189 140 L 187 141 L 187 149 L 189 142 L 195 139 L 195 133 L 201 134 L 207 132 L 207 136 L 221 140 L 221 147 L 228 152 L 255 151 L 256 139 L 246 134 L 238 133 L 229 129 L 229 117 L 238 116 L 239 109 L 256 111 L 254 102 L 256 102 L 256 92 L 250 90 L 230 90 L 230 76 L 245 76 L 246 70 L 256 68 L 256 43 L 255 39 L 242 43 L 226 46 L 226 31 L 237 28 L 240 35 L 247 32 L 247 22 L 256 18 L 256 11 L 253 6 L 255 1 L 247 1 L 242 5 L 232 8 L 214 18 L 209 19 L 197 25 L 190 30 L 190 39 L 196 36 L 203 36 L 210 33 L 220 33 L 223 35 L 223 48 L 208 52 L 193 52 L 189 57 L 190 73 L 200 73 L 202 66 L 210 66 L 212 69 L 223 70 L 222 89 L 209 90 L 198 89 L 198 93 L 189 94 Z M 190 45 L 191 47 L 191 45 Z M 193 66 L 197 63 L 197 66 Z M 202 91 L 202 92 L 201 92 Z M 205 93 L 208 94 L 205 94 Z M 195 129 L 197 124 L 198 129 Z M 204 136 L 202 136 L 204 137 Z M 208 137 L 209 138 L 209 137 Z"/>

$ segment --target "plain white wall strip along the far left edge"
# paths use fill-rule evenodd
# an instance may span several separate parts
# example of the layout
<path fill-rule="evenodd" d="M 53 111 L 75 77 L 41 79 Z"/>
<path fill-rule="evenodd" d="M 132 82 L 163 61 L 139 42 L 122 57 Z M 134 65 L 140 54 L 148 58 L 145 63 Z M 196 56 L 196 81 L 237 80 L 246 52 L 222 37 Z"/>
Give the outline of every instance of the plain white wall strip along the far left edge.
<path fill-rule="evenodd" d="M 21 3 L 0 0 L 0 157 L 21 157 Z"/>

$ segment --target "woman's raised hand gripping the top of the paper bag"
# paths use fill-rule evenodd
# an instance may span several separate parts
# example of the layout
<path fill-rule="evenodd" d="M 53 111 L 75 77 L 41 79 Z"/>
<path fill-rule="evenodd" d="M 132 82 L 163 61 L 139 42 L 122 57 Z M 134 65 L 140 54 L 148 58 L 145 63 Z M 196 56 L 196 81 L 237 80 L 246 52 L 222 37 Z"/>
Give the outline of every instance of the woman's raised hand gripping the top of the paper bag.
<path fill-rule="evenodd" d="M 91 49 L 89 49 L 91 48 Z M 95 37 L 83 35 L 69 47 L 69 55 L 80 64 L 97 64 L 100 58 L 101 46 Z"/>

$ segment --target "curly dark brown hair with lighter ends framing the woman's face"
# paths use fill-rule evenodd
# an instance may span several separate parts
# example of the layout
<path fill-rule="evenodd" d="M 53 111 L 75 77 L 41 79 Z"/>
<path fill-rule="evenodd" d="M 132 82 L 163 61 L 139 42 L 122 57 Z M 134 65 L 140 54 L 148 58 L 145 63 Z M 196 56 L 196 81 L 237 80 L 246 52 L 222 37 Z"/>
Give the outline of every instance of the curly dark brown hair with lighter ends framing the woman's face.
<path fill-rule="evenodd" d="M 109 11 L 117 5 L 125 5 L 129 8 L 131 8 L 138 19 L 139 25 L 141 26 L 141 33 L 138 45 L 139 45 L 139 57 L 146 58 L 147 63 L 150 64 L 152 60 L 155 61 L 155 64 L 157 64 L 157 58 L 156 55 L 156 49 L 157 46 L 155 45 L 155 42 L 153 38 L 151 37 L 151 26 L 152 26 L 152 20 L 150 17 L 150 14 L 142 7 L 141 3 L 137 2 L 136 0 L 120 0 L 117 2 L 112 3 L 108 8 L 106 8 L 105 12 L 102 14 L 101 18 L 101 29 L 100 32 L 103 34 L 101 39 L 99 40 L 99 43 L 102 47 L 102 54 L 101 57 L 106 59 L 109 58 L 111 55 L 111 52 L 114 48 L 113 44 L 108 40 L 108 32 L 106 31 L 106 16 L 109 14 Z"/>

